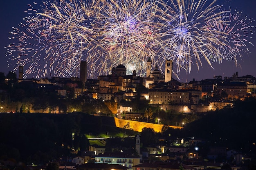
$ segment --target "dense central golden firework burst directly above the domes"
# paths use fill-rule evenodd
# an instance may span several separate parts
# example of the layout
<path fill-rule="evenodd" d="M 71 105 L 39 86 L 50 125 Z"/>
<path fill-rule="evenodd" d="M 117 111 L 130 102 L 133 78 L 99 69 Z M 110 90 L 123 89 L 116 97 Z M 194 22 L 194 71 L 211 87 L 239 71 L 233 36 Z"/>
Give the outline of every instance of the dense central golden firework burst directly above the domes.
<path fill-rule="evenodd" d="M 146 59 L 153 65 L 162 46 L 156 3 L 146 0 L 110 0 L 101 1 L 97 11 L 97 32 L 103 61 L 109 68 L 123 64 L 131 73 L 137 70 L 144 75 Z"/>

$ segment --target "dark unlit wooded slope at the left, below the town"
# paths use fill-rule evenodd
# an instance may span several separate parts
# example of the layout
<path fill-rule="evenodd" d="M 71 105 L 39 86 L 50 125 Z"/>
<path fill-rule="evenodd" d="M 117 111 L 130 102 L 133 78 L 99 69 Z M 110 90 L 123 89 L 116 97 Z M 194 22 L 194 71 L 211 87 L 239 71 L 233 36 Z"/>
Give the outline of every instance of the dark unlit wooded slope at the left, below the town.
<path fill-rule="evenodd" d="M 137 132 L 116 128 L 112 117 L 85 113 L 1 113 L 0 134 L 0 159 L 45 163 L 70 155 L 70 149 L 88 149 L 86 137 L 135 135 Z"/>

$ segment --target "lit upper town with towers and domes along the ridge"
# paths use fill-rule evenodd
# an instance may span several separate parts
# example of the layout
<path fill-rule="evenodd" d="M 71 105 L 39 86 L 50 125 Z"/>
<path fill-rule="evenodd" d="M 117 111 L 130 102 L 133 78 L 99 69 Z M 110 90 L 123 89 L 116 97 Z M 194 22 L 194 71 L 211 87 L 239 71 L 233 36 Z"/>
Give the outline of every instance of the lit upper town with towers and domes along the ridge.
<path fill-rule="evenodd" d="M 97 79 L 87 79 L 87 63 L 81 62 L 80 78 L 22 78 L 23 67 L 19 67 L 18 79 L 15 73 L 9 72 L 6 78 L 2 73 L 2 110 L 1 112 L 19 112 L 20 108 L 24 113 L 70 113 L 81 111 L 74 106 L 61 108 L 59 106 L 45 106 L 44 108 L 33 107 L 35 103 L 25 102 L 13 105 L 12 98 L 9 102 L 4 100 L 4 93 L 7 85 L 18 83 L 17 88 L 22 86 L 39 89 L 45 93 L 56 94 L 58 99 L 76 99 L 81 97 L 91 100 L 107 101 L 114 100 L 118 108 L 112 109 L 111 113 L 120 116 L 124 113 L 136 113 L 139 109 L 132 101 L 145 101 L 153 107 L 162 110 L 174 110 L 184 113 L 204 113 L 211 110 L 222 109 L 226 106 L 232 107 L 233 102 L 248 96 L 255 97 L 256 78 L 252 75 L 238 76 L 238 72 L 231 77 L 215 76 L 205 80 L 194 80 L 186 83 L 179 82 L 172 78 L 172 62 L 166 60 L 165 72 L 158 70 L 157 65 L 151 68 L 151 61 L 147 61 L 146 76 L 139 77 L 136 70 L 132 75 L 126 74 L 124 65 L 112 68 L 110 75 L 101 75 Z M 20 87 L 19 87 L 20 86 Z M 15 98 L 25 97 L 25 94 L 13 94 Z M 23 96 L 20 96 L 23 95 Z M 15 99 L 13 99 L 15 101 Z M 20 103 L 19 103 L 20 102 Z M 22 105 L 22 107 L 21 107 Z M 70 105 L 72 105 L 70 103 Z M 92 111 L 93 112 L 93 111 Z M 91 112 L 91 113 L 92 113 Z M 104 113 L 99 108 L 96 113 Z M 136 116 L 135 116 L 136 117 Z M 136 119 L 137 120 L 137 119 Z"/>

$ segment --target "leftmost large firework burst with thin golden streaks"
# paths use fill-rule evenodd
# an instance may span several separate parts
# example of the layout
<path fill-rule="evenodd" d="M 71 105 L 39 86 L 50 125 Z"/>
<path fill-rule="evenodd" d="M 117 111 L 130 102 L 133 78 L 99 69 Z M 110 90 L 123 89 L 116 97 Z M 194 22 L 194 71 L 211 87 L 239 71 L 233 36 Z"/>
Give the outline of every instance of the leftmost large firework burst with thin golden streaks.
<path fill-rule="evenodd" d="M 16 70 L 18 65 L 27 66 L 25 77 L 77 76 L 83 51 L 93 41 L 86 4 L 47 1 L 37 9 L 29 7 L 24 24 L 13 28 L 11 39 L 18 43 L 8 46 L 13 61 L 8 66 L 15 65 Z"/>

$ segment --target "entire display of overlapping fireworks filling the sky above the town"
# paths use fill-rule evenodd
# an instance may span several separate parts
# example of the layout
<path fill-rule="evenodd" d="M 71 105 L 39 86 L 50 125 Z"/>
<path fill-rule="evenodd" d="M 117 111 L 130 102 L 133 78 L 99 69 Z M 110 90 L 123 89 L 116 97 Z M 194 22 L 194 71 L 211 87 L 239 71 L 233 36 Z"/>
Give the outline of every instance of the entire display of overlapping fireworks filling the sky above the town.
<path fill-rule="evenodd" d="M 248 50 L 252 20 L 221 10 L 216 0 L 70 1 L 48 0 L 30 5 L 28 17 L 13 28 L 7 48 L 8 66 L 27 67 L 25 77 L 79 76 L 88 62 L 88 78 L 126 66 L 145 75 L 145 61 L 164 70 L 173 60 L 175 75 L 234 60 Z"/>

